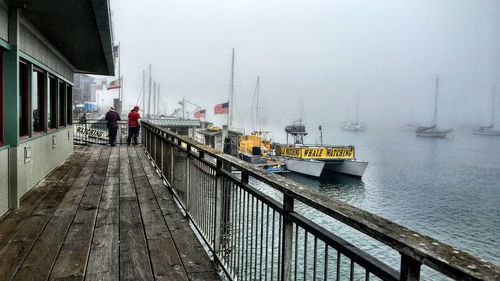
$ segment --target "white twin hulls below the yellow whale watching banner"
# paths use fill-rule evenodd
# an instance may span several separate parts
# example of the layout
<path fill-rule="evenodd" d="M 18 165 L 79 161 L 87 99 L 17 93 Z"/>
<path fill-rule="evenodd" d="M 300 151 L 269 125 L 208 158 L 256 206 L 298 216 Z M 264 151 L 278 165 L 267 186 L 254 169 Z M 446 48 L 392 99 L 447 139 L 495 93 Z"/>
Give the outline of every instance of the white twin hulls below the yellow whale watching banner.
<path fill-rule="evenodd" d="M 324 173 L 342 173 L 355 177 L 363 176 L 368 162 L 356 160 L 317 161 L 311 159 L 287 159 L 288 170 L 312 177 L 320 177 Z"/>

